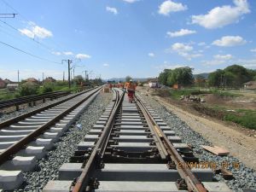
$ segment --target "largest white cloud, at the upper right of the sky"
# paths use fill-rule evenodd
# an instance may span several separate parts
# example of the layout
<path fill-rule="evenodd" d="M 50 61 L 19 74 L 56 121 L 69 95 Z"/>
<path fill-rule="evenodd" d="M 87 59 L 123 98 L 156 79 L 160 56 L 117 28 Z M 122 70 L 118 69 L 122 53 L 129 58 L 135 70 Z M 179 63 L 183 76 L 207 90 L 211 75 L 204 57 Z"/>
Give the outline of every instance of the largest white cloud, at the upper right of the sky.
<path fill-rule="evenodd" d="M 238 22 L 241 15 L 250 13 L 247 0 L 233 0 L 236 6 L 224 5 L 210 10 L 207 15 L 192 15 L 192 24 L 218 28 Z"/>

